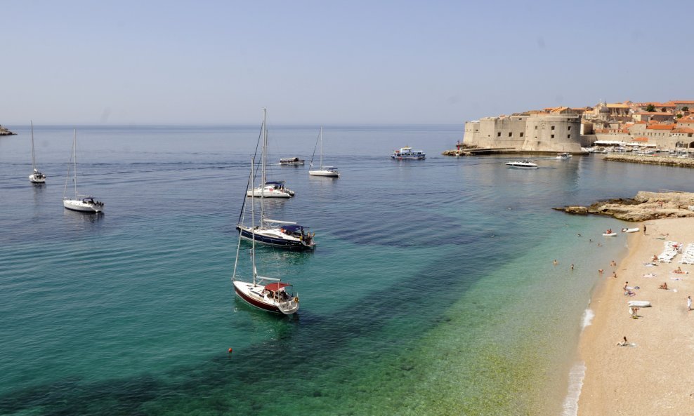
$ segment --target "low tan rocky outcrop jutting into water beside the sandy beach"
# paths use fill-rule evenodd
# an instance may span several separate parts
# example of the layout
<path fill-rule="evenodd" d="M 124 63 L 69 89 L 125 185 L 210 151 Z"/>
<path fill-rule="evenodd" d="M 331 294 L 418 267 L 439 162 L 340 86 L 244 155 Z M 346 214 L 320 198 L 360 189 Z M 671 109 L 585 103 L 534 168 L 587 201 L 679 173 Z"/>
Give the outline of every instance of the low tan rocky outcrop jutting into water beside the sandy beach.
<path fill-rule="evenodd" d="M 617 220 L 641 222 L 657 218 L 694 217 L 694 194 L 689 192 L 640 191 L 634 199 L 610 199 L 591 206 L 554 208 L 569 214 L 607 215 Z"/>

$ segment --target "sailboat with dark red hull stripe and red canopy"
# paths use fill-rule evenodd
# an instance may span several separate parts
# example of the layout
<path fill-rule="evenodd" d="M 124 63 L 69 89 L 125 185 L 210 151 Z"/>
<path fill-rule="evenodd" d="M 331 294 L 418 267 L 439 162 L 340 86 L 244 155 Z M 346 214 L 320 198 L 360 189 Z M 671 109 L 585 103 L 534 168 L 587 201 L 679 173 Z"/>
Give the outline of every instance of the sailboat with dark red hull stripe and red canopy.
<path fill-rule="evenodd" d="M 253 180 L 253 159 L 251 159 L 251 178 Z M 248 189 L 248 187 L 247 187 Z M 251 233 L 255 229 L 255 213 L 254 199 L 251 199 Z M 258 309 L 274 312 L 275 314 L 291 315 L 299 310 L 299 294 L 292 293 L 292 285 L 284 283 L 280 279 L 258 276 L 256 269 L 256 240 L 251 239 L 251 264 L 252 264 L 252 281 L 237 280 L 236 270 L 239 264 L 239 253 L 241 250 L 241 235 L 236 248 L 236 260 L 234 262 L 234 272 L 232 281 L 234 282 L 234 291 L 242 300 Z M 270 282 L 270 283 L 266 283 Z"/>

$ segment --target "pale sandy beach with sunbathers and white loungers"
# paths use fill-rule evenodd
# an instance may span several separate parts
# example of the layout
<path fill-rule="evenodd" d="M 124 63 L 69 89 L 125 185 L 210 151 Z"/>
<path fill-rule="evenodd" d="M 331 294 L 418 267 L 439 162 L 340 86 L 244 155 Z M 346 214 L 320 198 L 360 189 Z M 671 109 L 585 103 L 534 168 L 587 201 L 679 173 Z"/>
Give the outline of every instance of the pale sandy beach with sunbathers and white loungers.
<path fill-rule="evenodd" d="M 650 264 L 665 241 L 683 248 L 694 243 L 694 220 L 650 220 L 639 227 L 639 233 L 616 237 L 629 243 L 621 264 L 595 265 L 596 273 L 604 270 L 604 282 L 591 302 L 594 321 L 579 345 L 587 368 L 579 416 L 691 415 L 694 408 L 694 311 L 687 311 L 687 296 L 694 297 L 694 264 L 679 263 L 682 253 L 670 263 Z M 674 273 L 677 267 L 685 273 Z M 624 295 L 627 281 L 633 296 Z M 662 283 L 667 290 L 659 288 Z M 648 300 L 651 307 L 638 309 L 633 318 L 629 300 Z M 617 345 L 623 337 L 627 347 Z"/>

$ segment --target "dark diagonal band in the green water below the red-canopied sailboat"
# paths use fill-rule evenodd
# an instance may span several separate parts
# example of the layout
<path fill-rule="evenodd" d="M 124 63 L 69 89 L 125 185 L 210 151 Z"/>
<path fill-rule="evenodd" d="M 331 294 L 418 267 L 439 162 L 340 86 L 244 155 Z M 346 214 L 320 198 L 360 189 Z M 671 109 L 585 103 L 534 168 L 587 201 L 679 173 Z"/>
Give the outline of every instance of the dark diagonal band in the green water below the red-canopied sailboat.
<path fill-rule="evenodd" d="M 469 255 L 478 257 L 477 264 L 489 263 L 487 260 L 502 252 L 491 239 L 484 245 L 484 250 Z M 436 281 L 431 281 L 431 264 L 421 264 L 420 271 L 408 279 L 327 316 L 317 316 L 310 309 L 296 316 L 273 316 L 236 300 L 235 309 L 249 316 L 250 322 L 244 324 L 248 330 L 269 330 L 269 340 L 247 351 L 218 354 L 207 362 L 182 365 L 161 374 L 100 382 L 73 378 L 22 389 L 0 398 L 0 413 L 34 409 L 41 415 L 153 415 L 169 413 L 177 403 L 190 401 L 196 403 L 198 412 L 220 406 L 216 410 L 244 414 L 275 405 L 269 396 L 264 401 L 263 395 L 273 394 L 279 375 L 283 395 L 321 396 L 320 387 L 307 384 L 307 380 L 333 368 L 398 354 L 412 342 L 412 333 L 384 330 L 391 321 L 398 320 L 400 325 L 407 322 L 406 328 L 436 325 L 443 318 L 445 305 L 457 300 L 485 274 L 483 268 L 472 270 L 466 264 L 437 264 Z M 421 282 L 425 280 L 450 290 L 442 291 L 433 302 L 422 302 Z M 354 348 L 355 342 L 362 347 Z M 211 396 L 220 397 L 223 403 L 196 401 Z"/>

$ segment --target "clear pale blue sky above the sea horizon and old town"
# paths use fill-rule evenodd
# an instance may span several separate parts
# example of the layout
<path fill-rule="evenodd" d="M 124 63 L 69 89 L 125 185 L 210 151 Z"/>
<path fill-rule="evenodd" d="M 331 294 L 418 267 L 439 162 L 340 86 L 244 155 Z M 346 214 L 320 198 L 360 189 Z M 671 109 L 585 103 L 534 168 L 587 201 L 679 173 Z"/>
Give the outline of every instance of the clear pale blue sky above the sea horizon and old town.
<path fill-rule="evenodd" d="M 462 124 L 694 100 L 694 2 L 4 0 L 0 124 Z"/>

